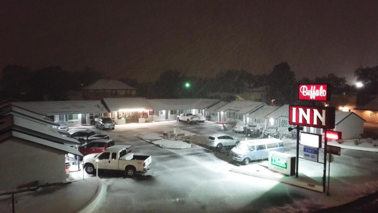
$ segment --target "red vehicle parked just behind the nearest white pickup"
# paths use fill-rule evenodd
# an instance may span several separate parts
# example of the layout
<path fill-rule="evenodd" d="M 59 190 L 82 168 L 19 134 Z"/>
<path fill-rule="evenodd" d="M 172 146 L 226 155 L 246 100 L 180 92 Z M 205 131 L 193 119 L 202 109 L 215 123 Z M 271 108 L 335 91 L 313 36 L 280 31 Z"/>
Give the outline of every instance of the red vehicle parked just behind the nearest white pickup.
<path fill-rule="evenodd" d="M 114 141 L 111 139 L 97 139 L 93 140 L 87 144 L 83 144 L 79 146 L 79 152 L 82 153 L 84 156 L 93 154 L 93 153 L 101 153 L 104 152 L 107 148 L 114 146 Z M 124 145 L 127 149 L 127 153 L 132 152 L 131 145 Z"/>

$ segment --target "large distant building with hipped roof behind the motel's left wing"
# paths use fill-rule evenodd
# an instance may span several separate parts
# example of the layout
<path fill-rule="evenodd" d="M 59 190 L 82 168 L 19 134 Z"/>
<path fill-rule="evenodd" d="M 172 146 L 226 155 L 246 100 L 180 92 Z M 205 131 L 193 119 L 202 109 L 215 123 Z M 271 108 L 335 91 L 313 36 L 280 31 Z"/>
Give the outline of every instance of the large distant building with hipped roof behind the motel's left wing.
<path fill-rule="evenodd" d="M 121 81 L 111 79 L 100 79 L 86 86 L 82 91 L 86 100 L 136 96 L 135 88 Z"/>

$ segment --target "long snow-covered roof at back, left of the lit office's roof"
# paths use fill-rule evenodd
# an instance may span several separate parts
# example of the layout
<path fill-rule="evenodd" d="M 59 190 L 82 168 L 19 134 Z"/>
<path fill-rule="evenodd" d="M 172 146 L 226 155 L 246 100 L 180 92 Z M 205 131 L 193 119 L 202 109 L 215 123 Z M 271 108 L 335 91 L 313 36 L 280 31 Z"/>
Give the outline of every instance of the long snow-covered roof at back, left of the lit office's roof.
<path fill-rule="evenodd" d="M 44 115 L 108 112 L 101 100 L 14 102 L 12 105 Z"/>

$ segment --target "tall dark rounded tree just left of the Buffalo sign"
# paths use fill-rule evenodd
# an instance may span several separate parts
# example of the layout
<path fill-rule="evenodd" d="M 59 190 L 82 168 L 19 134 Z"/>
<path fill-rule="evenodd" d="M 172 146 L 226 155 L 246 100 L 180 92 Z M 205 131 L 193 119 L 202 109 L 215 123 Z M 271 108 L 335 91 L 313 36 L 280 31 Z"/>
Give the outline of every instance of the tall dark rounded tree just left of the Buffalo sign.
<path fill-rule="evenodd" d="M 297 85 L 294 72 L 291 71 L 287 62 L 274 66 L 273 71 L 268 75 L 268 92 L 265 95 L 266 103 L 283 105 L 294 103 L 297 96 Z"/>

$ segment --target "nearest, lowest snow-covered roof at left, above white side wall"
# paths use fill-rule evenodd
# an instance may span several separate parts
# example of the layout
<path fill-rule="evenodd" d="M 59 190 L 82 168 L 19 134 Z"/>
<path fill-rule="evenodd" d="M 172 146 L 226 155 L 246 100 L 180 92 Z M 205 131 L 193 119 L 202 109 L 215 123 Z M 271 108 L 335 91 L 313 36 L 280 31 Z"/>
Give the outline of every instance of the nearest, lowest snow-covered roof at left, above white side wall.
<path fill-rule="evenodd" d="M 83 156 L 82 153 L 80 153 L 77 149 L 75 149 L 73 147 L 66 146 L 64 144 L 54 143 L 52 141 L 48 141 L 48 140 L 45 140 L 45 139 L 42 139 L 42 138 L 39 138 L 39 137 L 36 137 L 36 136 L 33 136 L 33 135 L 28 135 L 26 133 L 17 132 L 17 131 L 8 131 L 8 132 L 0 133 L 0 143 L 2 143 L 3 141 L 5 141 L 6 139 L 11 138 L 11 137 L 21 138 L 21 139 L 24 139 L 26 141 L 41 144 L 43 146 L 48 146 L 48 147 L 51 147 L 53 149 L 61 150 L 61 151 L 66 152 L 66 153 L 71 153 L 73 155 Z"/>

